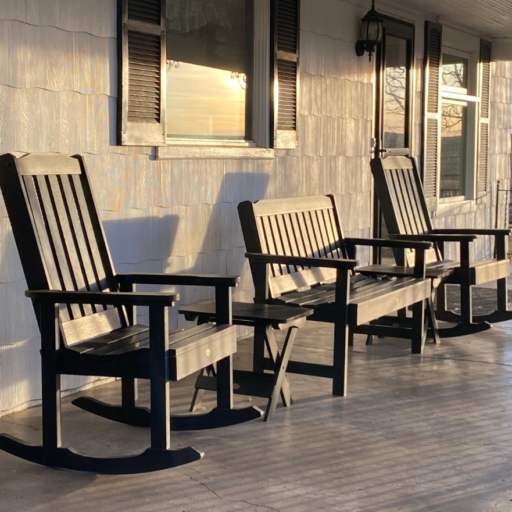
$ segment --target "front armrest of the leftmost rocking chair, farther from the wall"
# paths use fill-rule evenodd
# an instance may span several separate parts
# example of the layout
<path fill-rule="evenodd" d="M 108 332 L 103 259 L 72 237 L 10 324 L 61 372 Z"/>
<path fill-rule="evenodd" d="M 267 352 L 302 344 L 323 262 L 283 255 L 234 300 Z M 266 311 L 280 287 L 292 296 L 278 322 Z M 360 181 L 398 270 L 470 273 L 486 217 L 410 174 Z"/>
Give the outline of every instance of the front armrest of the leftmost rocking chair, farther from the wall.
<path fill-rule="evenodd" d="M 180 298 L 178 293 L 77 292 L 65 290 L 27 290 L 25 295 L 37 302 L 98 304 L 106 306 L 171 307 Z"/>

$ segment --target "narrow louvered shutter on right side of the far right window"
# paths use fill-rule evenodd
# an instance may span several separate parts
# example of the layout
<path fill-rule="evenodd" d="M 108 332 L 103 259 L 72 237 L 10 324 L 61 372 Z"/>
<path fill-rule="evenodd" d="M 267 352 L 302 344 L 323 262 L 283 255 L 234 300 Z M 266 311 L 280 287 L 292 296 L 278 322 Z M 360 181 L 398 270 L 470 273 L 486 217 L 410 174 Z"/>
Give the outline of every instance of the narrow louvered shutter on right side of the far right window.
<path fill-rule="evenodd" d="M 480 130 L 478 136 L 477 195 L 488 190 L 491 42 L 480 41 Z"/>

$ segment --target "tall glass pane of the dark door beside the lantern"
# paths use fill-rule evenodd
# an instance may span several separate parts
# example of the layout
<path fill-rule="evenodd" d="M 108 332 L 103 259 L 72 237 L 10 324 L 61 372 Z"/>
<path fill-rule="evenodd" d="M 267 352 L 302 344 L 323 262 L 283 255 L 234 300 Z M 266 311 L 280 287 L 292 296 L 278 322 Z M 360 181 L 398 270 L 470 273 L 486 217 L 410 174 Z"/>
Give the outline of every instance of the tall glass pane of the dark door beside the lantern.
<path fill-rule="evenodd" d="M 386 37 L 384 69 L 384 147 L 405 147 L 407 41 Z"/>

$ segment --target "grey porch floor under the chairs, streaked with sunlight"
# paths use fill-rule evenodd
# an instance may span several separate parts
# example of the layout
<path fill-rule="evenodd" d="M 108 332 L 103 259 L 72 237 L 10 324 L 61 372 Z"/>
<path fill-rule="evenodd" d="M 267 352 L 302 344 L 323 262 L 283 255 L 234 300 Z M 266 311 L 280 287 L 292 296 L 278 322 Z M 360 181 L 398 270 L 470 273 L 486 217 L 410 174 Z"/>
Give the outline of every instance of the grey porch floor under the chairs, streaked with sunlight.
<path fill-rule="evenodd" d="M 331 325 L 308 322 L 301 331 L 295 358 L 331 357 Z M 356 337 L 349 396 L 332 397 L 330 381 L 291 375 L 295 403 L 268 424 L 173 433 L 174 447 L 206 452 L 181 468 L 95 476 L 0 452 L 0 511 L 510 512 L 511 338 L 509 322 L 413 356 L 407 342 L 366 347 Z M 250 340 L 239 342 L 239 367 L 250 350 Z M 192 382 L 172 387 L 174 411 L 186 410 Z M 119 385 L 91 394 L 115 402 Z M 94 417 L 69 398 L 63 411 L 64 442 L 79 451 L 121 454 L 149 443 L 147 429 Z M 38 443 L 39 415 L 34 407 L 4 417 L 0 431 Z"/>

